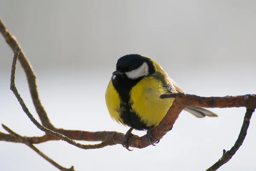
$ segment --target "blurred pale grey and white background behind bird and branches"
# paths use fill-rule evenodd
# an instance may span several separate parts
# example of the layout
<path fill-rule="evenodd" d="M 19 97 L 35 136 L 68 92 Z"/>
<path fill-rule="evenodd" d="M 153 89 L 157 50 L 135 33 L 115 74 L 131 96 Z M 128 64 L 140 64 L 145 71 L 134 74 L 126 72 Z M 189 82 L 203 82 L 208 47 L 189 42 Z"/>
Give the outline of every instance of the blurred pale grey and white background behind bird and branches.
<path fill-rule="evenodd" d="M 256 93 L 255 8 L 255 0 L 1 0 L 0 17 L 31 62 L 56 127 L 126 132 L 109 117 L 104 97 L 116 61 L 125 54 L 156 60 L 186 93 Z M 0 36 L 0 123 L 20 135 L 44 135 L 9 90 L 12 57 Z M 38 118 L 17 66 L 17 89 Z M 203 171 L 233 146 L 245 113 L 245 108 L 211 110 L 219 117 L 182 112 L 157 146 L 132 152 L 121 145 L 82 150 L 63 141 L 36 146 L 76 171 Z M 243 146 L 219 171 L 256 170 L 255 132 L 253 115 Z M 29 147 L 8 142 L 0 142 L 0 165 L 5 171 L 57 171 Z"/>

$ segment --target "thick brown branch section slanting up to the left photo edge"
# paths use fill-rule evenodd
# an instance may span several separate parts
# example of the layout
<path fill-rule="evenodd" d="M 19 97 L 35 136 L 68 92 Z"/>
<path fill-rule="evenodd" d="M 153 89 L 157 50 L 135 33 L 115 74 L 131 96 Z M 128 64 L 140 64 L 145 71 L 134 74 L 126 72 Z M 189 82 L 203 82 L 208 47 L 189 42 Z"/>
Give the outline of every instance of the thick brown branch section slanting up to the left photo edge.
<path fill-rule="evenodd" d="M 6 26 L 3 24 L 1 19 L 0 19 L 0 32 L 3 35 L 4 39 L 6 40 L 7 44 L 13 50 L 13 52 L 15 51 L 15 47 L 20 47 L 15 36 L 13 36 L 11 32 L 6 28 Z M 42 125 L 44 125 L 49 129 L 53 129 L 54 126 L 49 121 L 49 118 L 47 117 L 47 113 L 44 110 L 44 107 L 42 106 L 39 95 L 38 95 L 35 73 L 32 69 L 31 64 L 26 59 L 26 55 L 23 52 L 23 50 L 20 51 L 20 55 L 18 59 L 20 61 L 22 68 L 26 73 L 26 78 L 29 84 L 29 91 L 32 97 L 32 101 L 34 103 L 36 112 L 38 113 L 38 116 L 42 122 Z"/>

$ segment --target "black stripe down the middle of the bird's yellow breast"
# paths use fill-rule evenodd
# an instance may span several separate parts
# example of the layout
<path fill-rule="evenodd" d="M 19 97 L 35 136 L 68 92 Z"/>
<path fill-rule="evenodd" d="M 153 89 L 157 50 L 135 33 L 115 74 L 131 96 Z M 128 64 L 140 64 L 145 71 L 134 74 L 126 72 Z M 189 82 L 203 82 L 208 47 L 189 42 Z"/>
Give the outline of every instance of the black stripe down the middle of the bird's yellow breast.
<path fill-rule="evenodd" d="M 140 120 L 135 112 L 133 112 L 131 107 L 132 102 L 130 101 L 131 88 L 134 87 L 141 79 L 142 78 L 131 80 L 126 76 L 116 76 L 115 79 L 112 79 L 112 82 L 122 101 L 120 105 L 121 116 L 119 121 L 136 130 L 147 130 L 149 127 Z"/>

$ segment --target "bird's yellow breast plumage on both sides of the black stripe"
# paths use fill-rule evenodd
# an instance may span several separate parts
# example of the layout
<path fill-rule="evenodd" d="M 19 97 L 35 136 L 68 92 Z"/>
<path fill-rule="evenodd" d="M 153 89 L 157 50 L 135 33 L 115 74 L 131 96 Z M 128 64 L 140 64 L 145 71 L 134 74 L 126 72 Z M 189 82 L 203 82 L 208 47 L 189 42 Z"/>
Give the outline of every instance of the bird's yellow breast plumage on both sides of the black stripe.
<path fill-rule="evenodd" d="M 162 87 L 161 82 L 151 76 L 143 78 L 131 88 L 130 101 L 132 112 L 136 113 L 146 126 L 157 126 L 172 106 L 175 98 L 160 99 L 161 94 L 168 93 L 166 91 Z M 108 84 L 105 100 L 111 118 L 120 123 L 119 120 L 123 110 L 120 108 L 121 98 L 115 90 L 112 81 Z"/>

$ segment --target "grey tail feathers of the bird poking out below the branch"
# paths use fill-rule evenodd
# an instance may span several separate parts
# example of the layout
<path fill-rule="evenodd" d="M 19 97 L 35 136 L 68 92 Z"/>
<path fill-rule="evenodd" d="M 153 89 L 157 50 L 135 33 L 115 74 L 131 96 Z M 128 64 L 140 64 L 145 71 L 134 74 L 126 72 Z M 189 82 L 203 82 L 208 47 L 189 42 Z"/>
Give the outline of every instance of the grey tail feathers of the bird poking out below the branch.
<path fill-rule="evenodd" d="M 209 117 L 217 117 L 218 116 L 215 113 L 213 113 L 207 109 L 204 109 L 202 107 L 186 107 L 184 110 L 195 115 L 198 118 L 204 118 L 205 116 L 209 116 Z"/>

